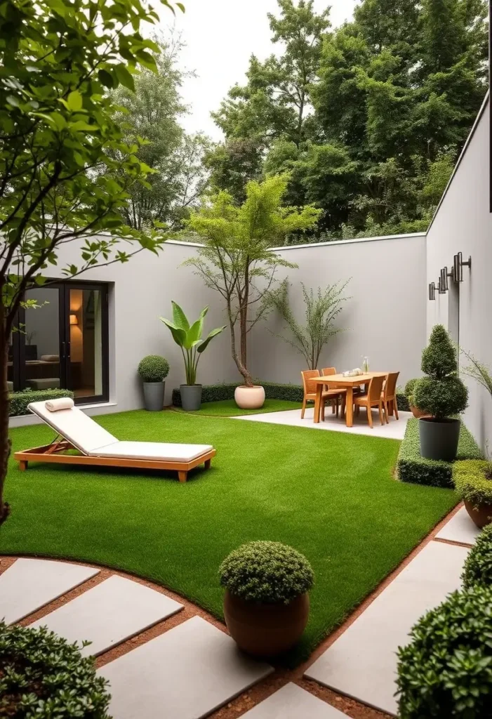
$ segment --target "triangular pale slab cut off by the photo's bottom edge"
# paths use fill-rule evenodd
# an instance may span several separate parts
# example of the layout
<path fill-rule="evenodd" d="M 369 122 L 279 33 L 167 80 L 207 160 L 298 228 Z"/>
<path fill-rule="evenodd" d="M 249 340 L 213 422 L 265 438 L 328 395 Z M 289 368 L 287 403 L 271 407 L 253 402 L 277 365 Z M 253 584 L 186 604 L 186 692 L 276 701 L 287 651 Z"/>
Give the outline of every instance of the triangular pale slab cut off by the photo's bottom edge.
<path fill-rule="evenodd" d="M 297 684 L 286 684 L 241 719 L 347 719 L 347 715 Z"/>

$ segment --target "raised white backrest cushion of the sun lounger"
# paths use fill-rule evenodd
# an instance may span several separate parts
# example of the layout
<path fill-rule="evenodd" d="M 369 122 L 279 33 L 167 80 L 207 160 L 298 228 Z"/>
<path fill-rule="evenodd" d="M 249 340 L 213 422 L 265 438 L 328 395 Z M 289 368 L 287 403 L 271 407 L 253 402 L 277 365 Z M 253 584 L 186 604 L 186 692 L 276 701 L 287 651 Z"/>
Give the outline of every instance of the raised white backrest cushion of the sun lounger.
<path fill-rule="evenodd" d="M 98 447 L 107 448 L 109 444 L 118 441 L 116 437 L 113 437 L 77 407 L 50 412 L 46 408 L 45 402 L 31 402 L 27 408 L 84 454 L 90 454 Z"/>

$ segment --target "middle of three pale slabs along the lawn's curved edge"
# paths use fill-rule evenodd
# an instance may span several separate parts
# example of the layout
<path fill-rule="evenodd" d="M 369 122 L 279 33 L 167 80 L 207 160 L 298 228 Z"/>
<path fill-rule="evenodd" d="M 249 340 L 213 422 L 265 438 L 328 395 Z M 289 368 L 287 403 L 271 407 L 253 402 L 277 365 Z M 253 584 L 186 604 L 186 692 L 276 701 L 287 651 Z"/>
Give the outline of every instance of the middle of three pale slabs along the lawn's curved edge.
<path fill-rule="evenodd" d="M 97 656 L 182 608 L 161 592 L 113 574 L 31 626 L 47 626 L 70 642 L 90 641 L 80 651 Z"/>

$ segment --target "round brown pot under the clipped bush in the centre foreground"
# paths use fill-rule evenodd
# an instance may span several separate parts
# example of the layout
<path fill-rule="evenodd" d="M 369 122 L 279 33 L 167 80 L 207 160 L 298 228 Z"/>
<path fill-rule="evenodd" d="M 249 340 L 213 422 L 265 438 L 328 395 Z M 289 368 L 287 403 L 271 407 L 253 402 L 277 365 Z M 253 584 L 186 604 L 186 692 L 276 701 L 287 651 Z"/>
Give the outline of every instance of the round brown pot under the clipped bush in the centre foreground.
<path fill-rule="evenodd" d="M 246 602 L 228 590 L 224 616 L 231 637 L 239 649 L 253 656 L 276 656 L 300 640 L 309 617 L 309 595 L 302 594 L 289 604 Z"/>

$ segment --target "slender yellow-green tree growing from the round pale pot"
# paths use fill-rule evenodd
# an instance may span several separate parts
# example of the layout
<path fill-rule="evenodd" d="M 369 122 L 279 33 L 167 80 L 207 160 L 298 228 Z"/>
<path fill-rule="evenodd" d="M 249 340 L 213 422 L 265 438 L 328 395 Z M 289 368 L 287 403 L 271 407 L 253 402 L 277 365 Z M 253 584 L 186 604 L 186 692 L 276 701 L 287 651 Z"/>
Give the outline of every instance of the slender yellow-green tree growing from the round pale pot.
<path fill-rule="evenodd" d="M 185 264 L 195 267 L 205 285 L 226 304 L 231 353 L 244 384 L 253 386 L 248 369 L 247 340 L 251 329 L 268 311 L 264 301 L 278 267 L 294 267 L 269 250 L 293 232 L 312 229 L 319 216 L 312 206 L 282 208 L 288 178 L 277 175 L 246 186 L 246 200 L 236 206 L 220 192 L 210 205 L 192 213 L 187 227 L 205 247 Z M 239 343 L 236 340 L 238 326 Z"/>

